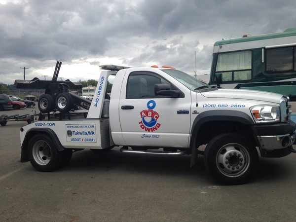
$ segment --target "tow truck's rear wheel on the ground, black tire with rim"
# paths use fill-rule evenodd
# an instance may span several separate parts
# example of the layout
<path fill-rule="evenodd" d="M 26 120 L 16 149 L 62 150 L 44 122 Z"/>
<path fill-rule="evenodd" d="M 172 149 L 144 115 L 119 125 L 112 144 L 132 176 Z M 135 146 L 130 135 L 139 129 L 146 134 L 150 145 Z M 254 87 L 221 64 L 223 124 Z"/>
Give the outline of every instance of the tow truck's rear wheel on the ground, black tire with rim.
<path fill-rule="evenodd" d="M 63 160 L 63 153 L 58 151 L 46 134 L 37 134 L 30 139 L 28 156 L 32 166 L 41 172 L 58 169 Z"/>

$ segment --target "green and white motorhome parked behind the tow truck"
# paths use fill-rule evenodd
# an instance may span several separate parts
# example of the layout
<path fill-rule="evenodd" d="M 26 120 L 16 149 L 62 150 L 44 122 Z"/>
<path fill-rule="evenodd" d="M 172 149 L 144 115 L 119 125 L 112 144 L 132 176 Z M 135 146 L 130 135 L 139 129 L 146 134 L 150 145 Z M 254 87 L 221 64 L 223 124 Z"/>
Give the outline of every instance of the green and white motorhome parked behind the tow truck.
<path fill-rule="evenodd" d="M 296 102 L 296 28 L 217 41 L 209 83 L 275 92 Z"/>

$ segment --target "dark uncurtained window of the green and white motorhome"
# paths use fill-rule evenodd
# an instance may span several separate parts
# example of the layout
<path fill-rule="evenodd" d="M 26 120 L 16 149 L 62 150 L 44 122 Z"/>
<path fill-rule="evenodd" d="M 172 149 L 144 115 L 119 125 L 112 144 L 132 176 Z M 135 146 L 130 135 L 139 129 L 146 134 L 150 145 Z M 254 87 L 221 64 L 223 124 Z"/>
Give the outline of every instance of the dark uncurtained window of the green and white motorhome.
<path fill-rule="evenodd" d="M 293 71 L 293 47 L 266 49 L 266 72 Z"/>

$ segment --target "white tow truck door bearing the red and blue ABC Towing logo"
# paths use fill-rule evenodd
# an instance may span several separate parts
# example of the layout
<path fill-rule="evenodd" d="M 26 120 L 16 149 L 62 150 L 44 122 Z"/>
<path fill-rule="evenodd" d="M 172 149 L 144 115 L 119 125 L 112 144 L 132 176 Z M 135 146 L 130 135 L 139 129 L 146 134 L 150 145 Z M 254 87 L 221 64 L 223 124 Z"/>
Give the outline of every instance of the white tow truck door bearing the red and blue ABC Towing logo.
<path fill-rule="evenodd" d="M 119 100 L 119 119 L 127 146 L 187 148 L 190 129 L 190 90 L 178 89 L 161 75 L 132 72 L 125 76 Z M 180 90 L 179 98 L 156 96 L 155 84 Z"/>

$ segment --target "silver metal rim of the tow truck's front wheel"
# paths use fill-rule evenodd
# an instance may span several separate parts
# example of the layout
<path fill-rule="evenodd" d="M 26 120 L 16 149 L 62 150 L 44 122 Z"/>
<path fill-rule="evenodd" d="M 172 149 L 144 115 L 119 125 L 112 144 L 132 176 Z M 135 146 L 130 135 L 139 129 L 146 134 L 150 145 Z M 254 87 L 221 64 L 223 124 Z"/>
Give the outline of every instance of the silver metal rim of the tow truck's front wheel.
<path fill-rule="evenodd" d="M 240 177 L 250 167 L 250 154 L 240 144 L 226 144 L 217 153 L 216 165 L 224 176 L 231 178 Z"/>

